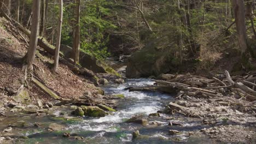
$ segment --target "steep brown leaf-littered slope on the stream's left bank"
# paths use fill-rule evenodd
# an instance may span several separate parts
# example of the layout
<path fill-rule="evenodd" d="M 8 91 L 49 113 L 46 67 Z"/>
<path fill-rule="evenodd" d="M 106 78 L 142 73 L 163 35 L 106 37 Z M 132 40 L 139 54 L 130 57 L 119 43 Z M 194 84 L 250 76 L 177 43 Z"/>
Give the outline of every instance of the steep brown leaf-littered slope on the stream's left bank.
<path fill-rule="evenodd" d="M 15 104 L 16 102 L 9 96 L 18 91 L 22 80 L 24 80 L 25 72 L 22 69 L 22 57 L 27 52 L 26 41 L 29 39 L 25 35 L 21 36 L 21 33 L 13 27 L 5 25 L 5 22 L 4 19 L 0 18 L 0 99 L 2 100 L 1 103 Z M 97 94 L 93 82 L 89 81 L 87 77 L 74 74 L 65 64 L 60 63 L 57 73 L 53 74 L 51 72 L 53 58 L 47 53 L 44 53 L 43 56 L 39 51 L 40 47 L 38 47 L 34 60 L 33 74 L 61 98 L 79 98 L 88 91 Z M 28 87 L 25 89 L 28 91 L 33 104 L 36 104 L 38 99 L 43 102 L 53 100 L 32 82 L 29 82 Z"/>

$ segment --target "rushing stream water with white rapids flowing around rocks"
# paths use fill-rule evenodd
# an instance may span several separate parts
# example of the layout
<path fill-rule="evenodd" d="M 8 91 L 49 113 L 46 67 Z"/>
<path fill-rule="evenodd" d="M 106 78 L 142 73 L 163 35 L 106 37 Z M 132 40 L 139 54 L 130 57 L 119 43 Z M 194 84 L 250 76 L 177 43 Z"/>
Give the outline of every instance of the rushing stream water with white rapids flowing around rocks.
<path fill-rule="evenodd" d="M 168 135 L 168 121 L 165 115 L 162 117 L 148 117 L 150 113 L 164 109 L 165 105 L 174 98 L 172 95 L 152 93 L 152 92 L 129 92 L 124 89 L 127 87 L 139 87 L 153 85 L 154 81 L 148 79 L 127 80 L 123 85 L 110 84 L 104 86 L 106 94 L 124 94 L 125 98 L 120 99 L 117 105 L 117 112 L 102 118 L 83 117 L 82 121 L 60 121 L 56 117 L 31 117 L 31 116 L 13 116 L 3 119 L 3 123 L 11 123 L 23 120 L 28 123 L 25 129 L 15 129 L 13 135 L 27 136 L 29 139 L 17 140 L 16 143 L 211 143 L 205 137 L 188 137 L 186 135 L 170 136 Z M 65 107 L 56 109 L 55 115 L 68 115 L 71 111 Z M 126 123 L 125 121 L 135 115 L 145 115 L 151 122 L 158 122 L 159 126 L 143 126 L 141 124 Z M 200 121 L 191 121 L 186 117 L 177 116 L 182 119 L 183 127 L 174 126 L 172 129 L 188 131 L 200 129 Z M 7 122 L 8 121 L 8 122 Z M 175 120 L 173 120 L 175 121 Z M 60 123 L 66 125 L 64 131 L 49 132 L 45 127 L 34 128 L 34 122 L 40 122 L 45 125 L 49 123 Z M 33 128 L 32 128 L 33 127 Z M 1 128 L 2 129 L 2 128 Z M 149 139 L 132 140 L 132 132 L 139 130 L 143 135 L 149 135 Z M 68 132 L 73 135 L 82 136 L 83 140 L 73 140 L 62 137 L 62 134 Z"/>

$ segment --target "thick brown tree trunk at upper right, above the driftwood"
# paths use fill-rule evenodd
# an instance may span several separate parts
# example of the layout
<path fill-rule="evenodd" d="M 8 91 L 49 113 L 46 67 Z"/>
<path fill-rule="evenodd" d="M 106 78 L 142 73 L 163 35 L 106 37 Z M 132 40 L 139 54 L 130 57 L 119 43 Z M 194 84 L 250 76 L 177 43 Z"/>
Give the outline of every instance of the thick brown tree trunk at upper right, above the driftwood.
<path fill-rule="evenodd" d="M 243 0 L 232 0 L 235 22 L 236 22 L 236 31 L 238 34 L 238 41 L 241 49 L 241 54 L 247 50 L 247 35 L 246 35 L 246 20 L 245 20 L 245 3 Z"/>

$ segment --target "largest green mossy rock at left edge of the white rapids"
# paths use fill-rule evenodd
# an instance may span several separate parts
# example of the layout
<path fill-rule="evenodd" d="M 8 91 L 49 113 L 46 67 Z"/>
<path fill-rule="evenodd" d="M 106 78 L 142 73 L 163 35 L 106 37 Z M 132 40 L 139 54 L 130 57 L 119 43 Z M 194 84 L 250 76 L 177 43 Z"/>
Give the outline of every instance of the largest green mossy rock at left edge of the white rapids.
<path fill-rule="evenodd" d="M 89 117 L 104 117 L 106 116 L 106 112 L 102 109 L 100 109 L 100 107 L 97 106 L 81 106 L 83 111 L 84 111 L 84 115 L 85 116 L 89 116 Z"/>

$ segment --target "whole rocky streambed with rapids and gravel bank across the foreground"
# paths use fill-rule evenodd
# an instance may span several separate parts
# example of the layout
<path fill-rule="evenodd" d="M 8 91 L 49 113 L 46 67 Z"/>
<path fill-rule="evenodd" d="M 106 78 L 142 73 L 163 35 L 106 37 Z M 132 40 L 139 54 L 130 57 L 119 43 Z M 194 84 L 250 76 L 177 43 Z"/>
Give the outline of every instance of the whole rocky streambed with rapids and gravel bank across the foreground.
<path fill-rule="evenodd" d="M 219 143 L 255 142 L 255 115 L 225 99 L 176 99 L 159 92 L 129 92 L 153 80 L 132 79 L 102 88 L 117 101 L 104 106 L 55 105 L 37 113 L 1 117 L 2 143 Z M 109 96 L 110 97 L 110 96 Z M 170 103 L 171 102 L 171 103 Z M 18 109 L 18 107 L 17 107 Z M 33 110 L 33 106 L 21 107 Z M 99 110 L 99 111 L 98 111 Z M 166 113 L 166 114 L 164 114 Z M 188 116 L 187 113 L 193 114 Z"/>

